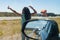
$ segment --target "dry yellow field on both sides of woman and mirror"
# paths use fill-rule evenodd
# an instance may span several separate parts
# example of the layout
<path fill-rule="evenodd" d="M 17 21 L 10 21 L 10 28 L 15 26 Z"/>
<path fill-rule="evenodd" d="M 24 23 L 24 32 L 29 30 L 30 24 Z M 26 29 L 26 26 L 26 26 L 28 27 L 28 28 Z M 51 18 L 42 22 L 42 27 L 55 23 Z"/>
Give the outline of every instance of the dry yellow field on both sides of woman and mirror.
<path fill-rule="evenodd" d="M 58 23 L 60 18 L 50 18 Z M 21 40 L 21 19 L 0 20 L 0 40 Z"/>

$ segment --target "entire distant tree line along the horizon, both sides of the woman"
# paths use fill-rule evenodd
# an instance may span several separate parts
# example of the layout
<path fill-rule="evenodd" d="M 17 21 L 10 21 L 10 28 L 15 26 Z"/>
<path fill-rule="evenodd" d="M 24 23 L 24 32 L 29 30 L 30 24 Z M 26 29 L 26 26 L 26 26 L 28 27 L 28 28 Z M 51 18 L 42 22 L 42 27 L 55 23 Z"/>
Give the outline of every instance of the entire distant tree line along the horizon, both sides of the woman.
<path fill-rule="evenodd" d="M 46 13 L 48 16 L 60 16 L 60 14 L 55 14 L 55 13 Z M 20 15 L 21 16 L 21 15 Z M 12 12 L 0 12 L 0 17 L 20 17 L 17 14 L 14 14 Z M 42 16 L 40 13 L 32 16 Z"/>

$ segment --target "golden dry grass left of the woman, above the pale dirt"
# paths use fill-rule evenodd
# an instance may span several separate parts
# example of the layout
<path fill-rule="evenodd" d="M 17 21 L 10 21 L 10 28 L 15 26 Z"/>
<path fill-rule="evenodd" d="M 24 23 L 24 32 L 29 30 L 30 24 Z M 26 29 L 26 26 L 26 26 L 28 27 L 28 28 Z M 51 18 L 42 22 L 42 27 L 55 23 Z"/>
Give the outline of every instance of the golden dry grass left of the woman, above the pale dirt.
<path fill-rule="evenodd" d="M 21 29 L 20 19 L 0 21 L 0 36 L 20 33 L 20 29 Z"/>

